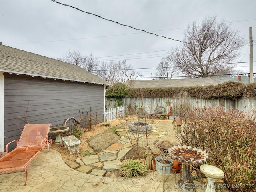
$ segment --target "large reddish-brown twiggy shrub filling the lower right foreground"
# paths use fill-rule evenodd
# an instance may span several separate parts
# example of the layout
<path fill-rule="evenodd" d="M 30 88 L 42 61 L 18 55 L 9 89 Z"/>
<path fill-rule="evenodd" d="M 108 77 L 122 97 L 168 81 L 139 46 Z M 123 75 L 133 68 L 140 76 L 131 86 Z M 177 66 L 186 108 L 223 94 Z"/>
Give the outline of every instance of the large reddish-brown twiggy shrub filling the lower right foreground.
<path fill-rule="evenodd" d="M 256 112 L 221 107 L 190 111 L 183 119 L 178 139 L 208 154 L 208 164 L 224 172 L 230 191 L 247 192 L 256 188 Z"/>

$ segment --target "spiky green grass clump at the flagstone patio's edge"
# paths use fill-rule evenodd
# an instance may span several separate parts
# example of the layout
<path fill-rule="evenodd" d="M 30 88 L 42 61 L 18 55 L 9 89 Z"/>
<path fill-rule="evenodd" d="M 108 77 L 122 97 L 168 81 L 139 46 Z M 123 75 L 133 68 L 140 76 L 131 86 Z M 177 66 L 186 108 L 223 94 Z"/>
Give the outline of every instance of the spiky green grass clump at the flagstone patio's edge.
<path fill-rule="evenodd" d="M 125 178 L 131 178 L 133 176 L 142 176 L 148 173 L 148 170 L 145 165 L 142 165 L 138 160 L 124 160 L 119 173 Z"/>

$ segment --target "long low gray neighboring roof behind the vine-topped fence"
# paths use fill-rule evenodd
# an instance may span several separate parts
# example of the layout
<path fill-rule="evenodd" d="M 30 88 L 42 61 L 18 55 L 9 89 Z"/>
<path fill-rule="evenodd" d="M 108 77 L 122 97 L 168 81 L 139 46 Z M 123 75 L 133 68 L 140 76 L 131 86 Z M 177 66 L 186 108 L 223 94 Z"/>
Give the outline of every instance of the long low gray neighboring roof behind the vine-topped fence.
<path fill-rule="evenodd" d="M 166 88 L 166 87 L 190 87 L 208 86 L 217 83 L 210 77 L 189 79 L 166 79 L 166 80 L 129 80 L 125 84 L 131 88 Z"/>

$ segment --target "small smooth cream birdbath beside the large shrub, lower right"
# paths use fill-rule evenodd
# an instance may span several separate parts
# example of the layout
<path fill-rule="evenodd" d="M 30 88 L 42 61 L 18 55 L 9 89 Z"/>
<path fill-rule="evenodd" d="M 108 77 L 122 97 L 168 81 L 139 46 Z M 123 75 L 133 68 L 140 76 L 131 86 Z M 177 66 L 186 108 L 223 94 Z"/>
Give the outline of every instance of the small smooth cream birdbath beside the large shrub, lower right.
<path fill-rule="evenodd" d="M 205 192 L 215 192 L 215 180 L 224 177 L 224 172 L 213 165 L 201 165 L 200 171 L 205 174 L 208 179 Z"/>

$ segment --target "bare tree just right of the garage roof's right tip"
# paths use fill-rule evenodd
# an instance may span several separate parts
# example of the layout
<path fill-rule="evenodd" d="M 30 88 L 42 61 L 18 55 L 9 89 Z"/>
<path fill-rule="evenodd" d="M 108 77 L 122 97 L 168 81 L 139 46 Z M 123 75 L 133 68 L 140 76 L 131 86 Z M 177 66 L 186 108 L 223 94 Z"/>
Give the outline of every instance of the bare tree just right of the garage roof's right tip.
<path fill-rule="evenodd" d="M 124 83 L 127 80 L 136 80 L 142 77 L 142 74 L 136 72 L 131 65 L 126 63 L 126 60 L 119 61 L 117 64 L 116 82 Z"/>

